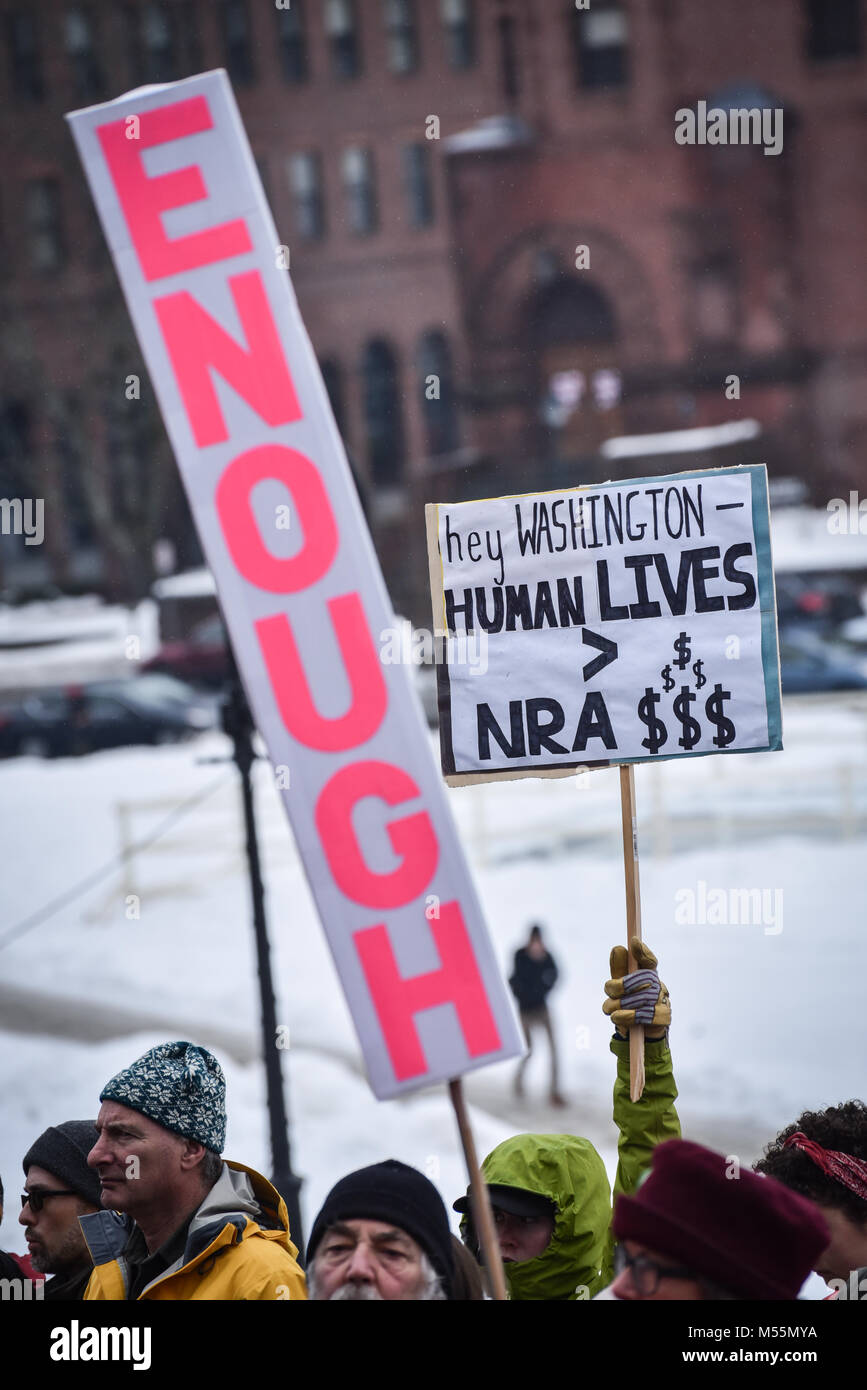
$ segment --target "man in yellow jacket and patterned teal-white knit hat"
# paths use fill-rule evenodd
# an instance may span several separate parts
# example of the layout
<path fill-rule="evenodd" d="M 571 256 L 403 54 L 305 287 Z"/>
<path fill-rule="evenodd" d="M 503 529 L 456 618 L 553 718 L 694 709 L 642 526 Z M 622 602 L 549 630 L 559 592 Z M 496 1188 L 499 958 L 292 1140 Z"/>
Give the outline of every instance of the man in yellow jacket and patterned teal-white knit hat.
<path fill-rule="evenodd" d="M 225 1077 L 192 1042 L 164 1042 L 100 1094 L 88 1163 L 103 1211 L 79 1218 L 93 1259 L 85 1298 L 304 1300 L 276 1190 L 224 1162 Z"/>

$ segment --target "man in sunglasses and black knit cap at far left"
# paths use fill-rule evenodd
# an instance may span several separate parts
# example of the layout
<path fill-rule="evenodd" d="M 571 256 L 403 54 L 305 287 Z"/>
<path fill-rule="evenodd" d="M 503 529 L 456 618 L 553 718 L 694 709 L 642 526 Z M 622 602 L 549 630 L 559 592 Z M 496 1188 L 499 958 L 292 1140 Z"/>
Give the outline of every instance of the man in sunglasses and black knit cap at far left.
<path fill-rule="evenodd" d="M 49 1302 L 85 1297 L 93 1270 L 78 1218 L 100 1209 L 100 1183 L 88 1154 L 99 1138 L 93 1120 L 51 1125 L 22 1159 L 26 1201 L 18 1220 L 33 1269 L 53 1275 L 43 1298 Z"/>

